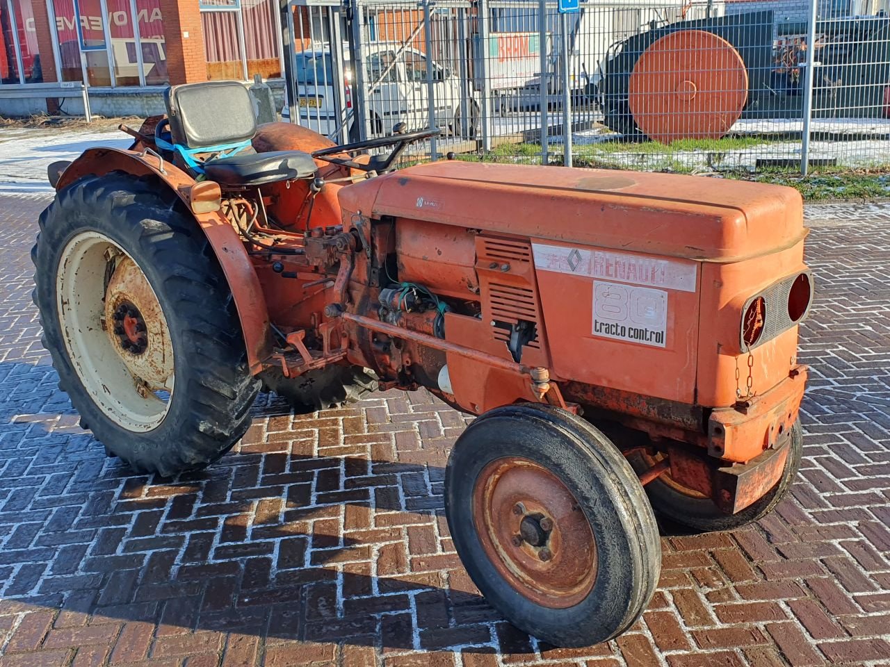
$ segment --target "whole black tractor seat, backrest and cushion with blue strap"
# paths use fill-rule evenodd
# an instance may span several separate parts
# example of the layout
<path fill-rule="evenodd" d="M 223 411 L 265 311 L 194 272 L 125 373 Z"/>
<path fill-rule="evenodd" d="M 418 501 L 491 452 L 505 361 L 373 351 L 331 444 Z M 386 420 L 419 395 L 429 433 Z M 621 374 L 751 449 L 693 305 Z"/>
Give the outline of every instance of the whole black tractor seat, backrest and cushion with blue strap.
<path fill-rule="evenodd" d="M 193 173 L 203 173 L 220 185 L 251 187 L 292 181 L 311 177 L 317 169 L 312 156 L 300 150 L 255 153 L 251 140 L 256 134 L 256 114 L 244 84 L 174 85 L 167 88 L 165 102 L 170 149 Z"/>

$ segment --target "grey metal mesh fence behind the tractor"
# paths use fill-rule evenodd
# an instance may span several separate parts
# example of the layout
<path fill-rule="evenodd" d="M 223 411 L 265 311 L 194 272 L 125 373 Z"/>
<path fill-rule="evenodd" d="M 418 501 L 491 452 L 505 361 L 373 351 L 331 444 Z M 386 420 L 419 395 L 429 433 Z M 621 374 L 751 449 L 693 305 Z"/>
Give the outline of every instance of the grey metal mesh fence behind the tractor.
<path fill-rule="evenodd" d="M 890 0 L 291 0 L 289 117 L 406 159 L 677 172 L 890 162 Z M 287 60 L 287 59 L 286 59 Z"/>

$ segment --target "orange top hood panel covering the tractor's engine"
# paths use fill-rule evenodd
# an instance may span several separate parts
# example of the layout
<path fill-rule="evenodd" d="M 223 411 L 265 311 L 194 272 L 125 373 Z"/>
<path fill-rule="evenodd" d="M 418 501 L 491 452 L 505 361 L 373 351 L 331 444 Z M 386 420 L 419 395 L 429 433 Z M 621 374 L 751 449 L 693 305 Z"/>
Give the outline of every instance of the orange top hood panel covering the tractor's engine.
<path fill-rule="evenodd" d="M 344 221 L 392 215 L 697 261 L 740 261 L 805 236 L 797 190 L 701 176 L 441 161 L 339 197 Z"/>

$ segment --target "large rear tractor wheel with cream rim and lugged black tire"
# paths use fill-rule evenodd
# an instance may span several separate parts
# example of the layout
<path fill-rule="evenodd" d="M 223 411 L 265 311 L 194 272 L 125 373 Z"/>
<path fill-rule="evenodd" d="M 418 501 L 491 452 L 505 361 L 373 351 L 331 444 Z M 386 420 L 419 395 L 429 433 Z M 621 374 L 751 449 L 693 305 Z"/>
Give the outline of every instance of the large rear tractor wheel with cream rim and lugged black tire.
<path fill-rule="evenodd" d="M 31 257 L 59 387 L 109 454 L 171 477 L 231 449 L 260 382 L 179 197 L 154 177 L 85 176 L 41 213 Z"/>

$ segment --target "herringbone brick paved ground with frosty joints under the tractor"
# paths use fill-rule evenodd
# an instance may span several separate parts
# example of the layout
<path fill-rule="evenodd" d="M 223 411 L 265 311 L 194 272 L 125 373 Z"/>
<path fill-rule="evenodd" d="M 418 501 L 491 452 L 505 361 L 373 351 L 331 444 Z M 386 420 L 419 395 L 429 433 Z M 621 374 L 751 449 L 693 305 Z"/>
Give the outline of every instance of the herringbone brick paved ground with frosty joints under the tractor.
<path fill-rule="evenodd" d="M 206 474 L 135 477 L 38 342 L 38 199 L 0 198 L 0 665 L 890 664 L 890 206 L 810 209 L 805 462 L 759 526 L 667 537 L 650 609 L 557 650 L 480 599 L 441 515 L 464 426 L 424 393 L 320 417 L 264 397 Z"/>

